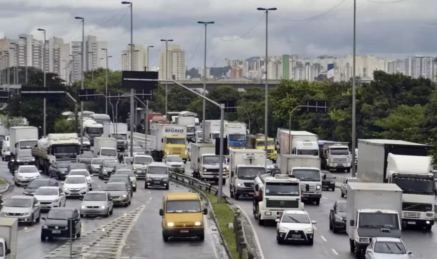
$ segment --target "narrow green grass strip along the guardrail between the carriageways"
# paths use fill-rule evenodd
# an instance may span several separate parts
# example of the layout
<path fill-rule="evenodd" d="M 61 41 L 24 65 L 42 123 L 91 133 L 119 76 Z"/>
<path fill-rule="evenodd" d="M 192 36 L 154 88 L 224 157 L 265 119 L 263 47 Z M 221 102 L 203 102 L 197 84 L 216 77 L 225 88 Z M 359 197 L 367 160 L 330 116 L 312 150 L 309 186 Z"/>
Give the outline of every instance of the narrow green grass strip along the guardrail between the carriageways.
<path fill-rule="evenodd" d="M 231 250 L 232 259 L 237 259 L 238 252 L 236 250 L 234 229 L 228 228 L 228 223 L 234 223 L 234 211 L 227 203 L 218 203 L 217 196 L 206 193 L 206 197 L 209 199 L 214 209 L 214 213 L 218 222 L 218 228 L 220 228 L 223 238 Z M 214 217 L 212 213 L 209 213 L 209 215 L 210 217 Z"/>

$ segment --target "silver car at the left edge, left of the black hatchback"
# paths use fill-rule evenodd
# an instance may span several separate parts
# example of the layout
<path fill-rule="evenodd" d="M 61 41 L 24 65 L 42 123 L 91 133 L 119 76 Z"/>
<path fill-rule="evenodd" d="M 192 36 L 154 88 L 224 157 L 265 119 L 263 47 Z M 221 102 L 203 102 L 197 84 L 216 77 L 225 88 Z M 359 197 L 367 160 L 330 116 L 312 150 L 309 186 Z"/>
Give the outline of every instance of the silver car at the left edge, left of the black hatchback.
<path fill-rule="evenodd" d="M 33 225 L 41 220 L 41 205 L 33 196 L 12 196 L 0 211 L 0 217 L 17 218 L 18 222 Z"/>

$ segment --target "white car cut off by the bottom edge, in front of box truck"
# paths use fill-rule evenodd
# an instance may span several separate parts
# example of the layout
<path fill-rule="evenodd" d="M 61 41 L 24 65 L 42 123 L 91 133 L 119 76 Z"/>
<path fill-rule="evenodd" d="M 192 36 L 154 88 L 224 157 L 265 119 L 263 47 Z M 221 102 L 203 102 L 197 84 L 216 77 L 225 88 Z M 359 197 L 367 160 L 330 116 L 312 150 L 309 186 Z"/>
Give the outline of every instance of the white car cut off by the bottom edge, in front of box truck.
<path fill-rule="evenodd" d="M 409 259 L 412 253 L 396 237 L 374 237 L 366 249 L 366 259 Z"/>

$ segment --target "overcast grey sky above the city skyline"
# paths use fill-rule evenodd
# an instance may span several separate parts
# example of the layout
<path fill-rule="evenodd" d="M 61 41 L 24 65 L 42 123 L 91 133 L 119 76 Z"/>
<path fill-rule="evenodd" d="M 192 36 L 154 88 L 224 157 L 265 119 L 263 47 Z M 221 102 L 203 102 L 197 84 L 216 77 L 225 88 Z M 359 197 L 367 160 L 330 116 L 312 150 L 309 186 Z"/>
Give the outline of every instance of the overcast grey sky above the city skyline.
<path fill-rule="evenodd" d="M 437 0 L 356 2 L 357 55 L 437 53 Z M 134 44 L 154 45 L 151 65 L 157 66 L 165 47 L 159 40 L 173 39 L 188 67 L 202 66 L 204 27 L 197 21 L 215 21 L 208 25 L 207 66 L 264 56 L 266 17 L 257 7 L 278 8 L 269 13 L 269 55 L 352 54 L 353 0 L 134 0 Z M 110 66 L 120 69 L 120 53 L 130 43 L 130 12 L 120 0 L 0 0 L 0 37 L 32 33 L 41 39 L 36 29 L 43 28 L 47 37 L 80 41 L 74 16 L 85 17 L 85 35 L 108 41 Z"/>

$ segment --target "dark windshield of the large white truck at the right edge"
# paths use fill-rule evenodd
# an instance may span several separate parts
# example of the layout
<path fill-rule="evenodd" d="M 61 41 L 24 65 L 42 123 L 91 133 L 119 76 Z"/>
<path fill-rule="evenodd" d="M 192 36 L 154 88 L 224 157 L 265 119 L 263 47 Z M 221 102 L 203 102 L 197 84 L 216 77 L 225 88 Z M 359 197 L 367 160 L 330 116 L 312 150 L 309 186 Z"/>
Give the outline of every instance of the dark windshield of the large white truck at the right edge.
<path fill-rule="evenodd" d="M 434 196 L 434 179 L 394 177 L 393 183 L 396 183 L 404 194 Z"/>

